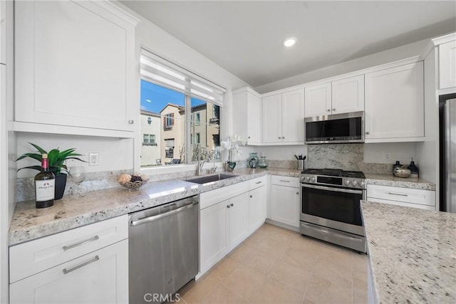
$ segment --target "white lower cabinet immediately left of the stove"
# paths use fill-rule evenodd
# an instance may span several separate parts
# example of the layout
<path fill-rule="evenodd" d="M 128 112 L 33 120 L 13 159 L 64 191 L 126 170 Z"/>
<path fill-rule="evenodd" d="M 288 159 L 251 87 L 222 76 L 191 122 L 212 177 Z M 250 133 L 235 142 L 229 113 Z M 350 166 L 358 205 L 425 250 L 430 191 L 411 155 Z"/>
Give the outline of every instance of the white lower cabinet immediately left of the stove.
<path fill-rule="evenodd" d="M 299 228 L 299 178 L 274 175 L 271 183 L 271 219 Z"/>

